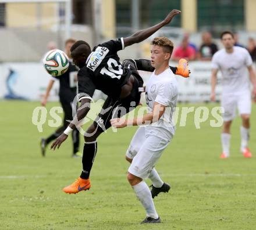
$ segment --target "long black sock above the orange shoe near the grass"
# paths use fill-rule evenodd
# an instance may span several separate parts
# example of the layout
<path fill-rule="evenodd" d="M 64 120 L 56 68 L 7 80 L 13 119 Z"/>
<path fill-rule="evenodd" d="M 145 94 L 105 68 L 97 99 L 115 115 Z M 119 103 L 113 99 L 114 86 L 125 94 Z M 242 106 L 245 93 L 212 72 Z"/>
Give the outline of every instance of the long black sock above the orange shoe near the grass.
<path fill-rule="evenodd" d="M 97 153 L 97 141 L 93 141 L 91 143 L 84 143 L 84 151 L 83 151 L 83 159 L 82 159 L 83 170 L 80 175 L 82 179 L 89 178 L 96 153 Z"/>

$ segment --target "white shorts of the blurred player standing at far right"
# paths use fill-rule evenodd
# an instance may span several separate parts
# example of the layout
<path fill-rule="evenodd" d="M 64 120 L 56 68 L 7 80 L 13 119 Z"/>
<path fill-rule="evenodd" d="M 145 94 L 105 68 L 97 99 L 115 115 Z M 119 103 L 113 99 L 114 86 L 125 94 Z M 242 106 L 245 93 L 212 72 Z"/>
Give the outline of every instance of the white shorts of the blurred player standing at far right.
<path fill-rule="evenodd" d="M 241 114 L 251 114 L 251 92 L 222 94 L 221 106 L 224 108 L 223 121 L 236 118 L 236 108 Z"/>

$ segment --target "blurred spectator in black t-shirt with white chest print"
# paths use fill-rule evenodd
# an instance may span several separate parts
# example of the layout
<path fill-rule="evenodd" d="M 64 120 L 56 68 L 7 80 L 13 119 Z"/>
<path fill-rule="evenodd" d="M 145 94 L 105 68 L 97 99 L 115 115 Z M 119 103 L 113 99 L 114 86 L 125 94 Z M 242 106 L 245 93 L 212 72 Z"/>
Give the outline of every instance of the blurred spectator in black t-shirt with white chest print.
<path fill-rule="evenodd" d="M 209 32 L 202 33 L 202 45 L 198 52 L 198 59 L 208 61 L 218 51 L 218 46 L 212 42 L 212 35 Z"/>

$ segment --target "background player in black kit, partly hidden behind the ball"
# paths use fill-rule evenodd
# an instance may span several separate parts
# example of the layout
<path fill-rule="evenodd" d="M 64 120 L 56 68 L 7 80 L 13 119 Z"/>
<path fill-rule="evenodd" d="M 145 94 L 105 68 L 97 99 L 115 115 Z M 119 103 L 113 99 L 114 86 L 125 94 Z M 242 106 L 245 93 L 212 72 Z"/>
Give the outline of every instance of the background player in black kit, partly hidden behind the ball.
<path fill-rule="evenodd" d="M 64 117 L 63 117 L 63 125 L 59 127 L 54 133 L 52 133 L 47 138 L 41 138 L 41 153 L 42 156 L 45 156 L 45 151 L 47 145 L 55 140 L 57 137 L 59 137 L 63 131 L 66 129 L 66 127 L 69 125 L 69 122 L 72 121 L 72 103 L 74 98 L 77 96 L 77 67 L 73 64 L 72 59 L 70 57 L 70 48 L 76 40 L 70 38 L 67 39 L 65 42 L 65 53 L 67 54 L 67 57 L 69 57 L 69 68 L 68 70 L 62 74 L 61 76 L 53 76 L 52 79 L 49 81 L 47 92 L 45 93 L 44 97 L 42 98 L 41 104 L 43 106 L 47 103 L 47 98 L 49 96 L 49 92 L 52 89 L 52 85 L 54 85 L 54 82 L 56 80 L 59 80 L 59 100 L 61 102 L 63 111 L 64 111 Z M 74 108 L 76 109 L 76 108 Z M 73 157 L 80 157 L 79 152 L 79 131 L 77 129 L 74 129 L 72 132 L 72 140 L 73 140 Z"/>

